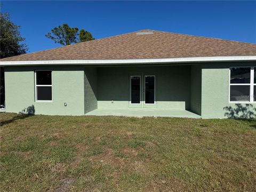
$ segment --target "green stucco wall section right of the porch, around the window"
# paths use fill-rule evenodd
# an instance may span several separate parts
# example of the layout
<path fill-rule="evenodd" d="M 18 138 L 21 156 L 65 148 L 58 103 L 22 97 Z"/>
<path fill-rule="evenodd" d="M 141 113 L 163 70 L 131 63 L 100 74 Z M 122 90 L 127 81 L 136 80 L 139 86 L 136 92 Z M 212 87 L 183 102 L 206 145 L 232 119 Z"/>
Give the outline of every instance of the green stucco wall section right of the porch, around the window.
<path fill-rule="evenodd" d="M 246 117 L 256 103 L 229 103 L 229 67 L 256 66 L 256 62 L 205 63 L 202 65 L 202 118 Z"/>

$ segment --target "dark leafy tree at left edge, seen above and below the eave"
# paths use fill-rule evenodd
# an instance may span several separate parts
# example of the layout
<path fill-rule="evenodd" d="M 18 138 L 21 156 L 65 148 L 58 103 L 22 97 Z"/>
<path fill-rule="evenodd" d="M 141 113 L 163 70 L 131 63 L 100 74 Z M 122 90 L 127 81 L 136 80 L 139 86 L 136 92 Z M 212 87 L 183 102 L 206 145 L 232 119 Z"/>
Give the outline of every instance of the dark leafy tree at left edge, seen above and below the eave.
<path fill-rule="evenodd" d="M 10 20 L 9 13 L 0 13 L 0 58 L 25 54 L 28 47 L 22 41 L 25 38 L 20 35 L 20 26 Z M 0 104 L 4 105 L 4 68 L 0 68 Z"/>

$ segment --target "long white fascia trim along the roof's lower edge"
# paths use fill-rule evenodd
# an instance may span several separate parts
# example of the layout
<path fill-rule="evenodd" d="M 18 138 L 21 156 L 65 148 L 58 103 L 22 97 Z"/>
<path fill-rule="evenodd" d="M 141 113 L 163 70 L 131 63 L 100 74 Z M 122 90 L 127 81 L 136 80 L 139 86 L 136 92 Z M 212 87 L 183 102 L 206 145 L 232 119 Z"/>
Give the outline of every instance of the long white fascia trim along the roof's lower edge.
<path fill-rule="evenodd" d="M 189 63 L 221 61 L 256 61 L 254 56 L 190 57 L 164 59 L 111 59 L 111 60 L 42 60 L 42 61 L 1 61 L 1 66 L 38 66 L 38 65 L 122 65 L 154 63 Z"/>

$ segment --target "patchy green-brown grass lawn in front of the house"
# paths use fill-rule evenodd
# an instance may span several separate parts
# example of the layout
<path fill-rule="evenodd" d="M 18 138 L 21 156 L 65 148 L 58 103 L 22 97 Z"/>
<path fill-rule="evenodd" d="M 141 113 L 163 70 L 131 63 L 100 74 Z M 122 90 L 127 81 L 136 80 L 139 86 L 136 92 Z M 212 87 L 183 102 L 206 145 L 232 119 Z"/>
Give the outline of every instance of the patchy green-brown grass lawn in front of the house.
<path fill-rule="evenodd" d="M 255 191 L 256 120 L 1 114 L 1 191 Z"/>

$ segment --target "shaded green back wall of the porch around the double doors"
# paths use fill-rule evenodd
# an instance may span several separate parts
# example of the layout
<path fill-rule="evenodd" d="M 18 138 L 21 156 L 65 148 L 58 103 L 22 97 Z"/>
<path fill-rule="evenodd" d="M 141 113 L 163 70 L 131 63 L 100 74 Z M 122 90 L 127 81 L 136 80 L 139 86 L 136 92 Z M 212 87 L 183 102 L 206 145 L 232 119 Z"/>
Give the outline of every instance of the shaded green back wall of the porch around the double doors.
<path fill-rule="evenodd" d="M 111 110 L 131 107 L 130 75 L 142 74 L 156 75 L 157 103 L 146 107 L 178 110 L 190 108 L 190 66 L 100 67 L 98 108 Z"/>

